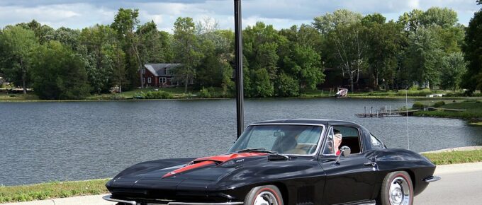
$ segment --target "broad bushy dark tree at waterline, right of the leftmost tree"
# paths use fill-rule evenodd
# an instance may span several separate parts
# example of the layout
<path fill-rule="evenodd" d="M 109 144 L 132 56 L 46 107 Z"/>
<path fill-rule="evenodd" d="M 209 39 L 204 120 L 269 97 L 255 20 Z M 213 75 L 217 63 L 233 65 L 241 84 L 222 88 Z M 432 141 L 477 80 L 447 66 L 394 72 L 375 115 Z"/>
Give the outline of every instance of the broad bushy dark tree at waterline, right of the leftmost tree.
<path fill-rule="evenodd" d="M 33 89 L 41 99 L 83 99 L 89 95 L 82 57 L 50 41 L 35 49 L 32 60 Z"/>

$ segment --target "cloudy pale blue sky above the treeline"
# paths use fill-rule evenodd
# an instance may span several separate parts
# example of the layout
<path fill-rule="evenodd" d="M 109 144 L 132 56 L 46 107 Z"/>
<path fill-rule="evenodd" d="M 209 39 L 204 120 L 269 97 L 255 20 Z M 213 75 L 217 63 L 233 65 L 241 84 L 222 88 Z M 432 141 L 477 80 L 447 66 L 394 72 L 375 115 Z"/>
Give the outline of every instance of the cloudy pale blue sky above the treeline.
<path fill-rule="evenodd" d="M 242 25 L 263 21 L 274 28 L 310 24 L 315 16 L 346 8 L 364 15 L 382 13 L 397 20 L 404 12 L 432 6 L 452 8 L 459 23 L 468 25 L 481 6 L 476 0 L 241 0 Z M 203 21 L 214 19 L 221 29 L 234 29 L 233 0 L 0 0 L 0 28 L 32 19 L 50 25 L 82 29 L 97 23 L 110 24 L 118 8 L 138 8 L 140 23 L 154 21 L 158 30 L 172 33 L 179 16 Z"/>

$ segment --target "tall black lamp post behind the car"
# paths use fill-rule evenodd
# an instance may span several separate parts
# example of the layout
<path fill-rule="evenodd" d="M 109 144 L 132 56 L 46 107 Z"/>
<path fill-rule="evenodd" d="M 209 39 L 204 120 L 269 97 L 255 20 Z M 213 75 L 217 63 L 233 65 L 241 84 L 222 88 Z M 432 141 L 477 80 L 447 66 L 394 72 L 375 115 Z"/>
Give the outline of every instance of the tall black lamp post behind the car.
<path fill-rule="evenodd" d="M 241 19 L 241 0 L 235 1 L 235 69 L 236 69 L 236 117 L 237 117 L 237 137 L 239 138 L 244 129 L 244 94 L 242 86 L 242 19 Z"/>

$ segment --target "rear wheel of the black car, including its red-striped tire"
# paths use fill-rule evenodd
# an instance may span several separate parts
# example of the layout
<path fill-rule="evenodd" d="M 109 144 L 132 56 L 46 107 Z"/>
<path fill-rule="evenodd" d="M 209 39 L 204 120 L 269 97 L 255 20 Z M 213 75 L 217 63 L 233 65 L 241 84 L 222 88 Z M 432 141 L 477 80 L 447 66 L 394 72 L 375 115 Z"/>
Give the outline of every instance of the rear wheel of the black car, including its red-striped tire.
<path fill-rule="evenodd" d="M 413 205 L 413 184 L 407 172 L 390 172 L 383 179 L 377 204 Z"/>

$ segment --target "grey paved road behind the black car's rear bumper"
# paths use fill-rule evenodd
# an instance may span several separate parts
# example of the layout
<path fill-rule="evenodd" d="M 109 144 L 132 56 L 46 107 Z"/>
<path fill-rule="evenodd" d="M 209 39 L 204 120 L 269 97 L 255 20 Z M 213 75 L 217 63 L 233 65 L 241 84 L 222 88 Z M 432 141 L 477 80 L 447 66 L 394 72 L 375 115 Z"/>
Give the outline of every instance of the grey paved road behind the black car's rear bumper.
<path fill-rule="evenodd" d="M 415 197 L 414 204 L 482 204 L 480 163 L 478 167 L 463 170 L 444 167 L 435 174 L 442 177 L 442 180 L 429 185 L 422 194 Z"/>

